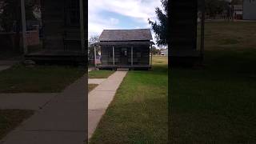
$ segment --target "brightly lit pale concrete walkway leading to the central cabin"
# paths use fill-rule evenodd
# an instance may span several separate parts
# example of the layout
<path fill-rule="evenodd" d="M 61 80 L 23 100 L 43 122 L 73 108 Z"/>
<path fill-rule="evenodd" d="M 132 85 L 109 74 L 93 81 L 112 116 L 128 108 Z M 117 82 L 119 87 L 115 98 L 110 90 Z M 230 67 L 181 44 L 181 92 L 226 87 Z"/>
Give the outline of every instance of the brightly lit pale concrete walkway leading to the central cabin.
<path fill-rule="evenodd" d="M 94 134 L 98 122 L 105 114 L 126 73 L 127 71 L 116 71 L 106 81 L 90 91 L 88 95 L 88 139 Z"/>

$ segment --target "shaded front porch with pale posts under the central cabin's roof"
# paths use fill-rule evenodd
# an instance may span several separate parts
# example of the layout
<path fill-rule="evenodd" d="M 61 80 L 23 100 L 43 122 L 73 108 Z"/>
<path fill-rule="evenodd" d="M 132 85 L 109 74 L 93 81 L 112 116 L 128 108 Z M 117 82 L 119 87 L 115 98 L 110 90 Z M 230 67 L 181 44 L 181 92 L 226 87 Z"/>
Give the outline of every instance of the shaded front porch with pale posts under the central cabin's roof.
<path fill-rule="evenodd" d="M 150 69 L 150 46 L 101 46 L 98 69 Z"/>

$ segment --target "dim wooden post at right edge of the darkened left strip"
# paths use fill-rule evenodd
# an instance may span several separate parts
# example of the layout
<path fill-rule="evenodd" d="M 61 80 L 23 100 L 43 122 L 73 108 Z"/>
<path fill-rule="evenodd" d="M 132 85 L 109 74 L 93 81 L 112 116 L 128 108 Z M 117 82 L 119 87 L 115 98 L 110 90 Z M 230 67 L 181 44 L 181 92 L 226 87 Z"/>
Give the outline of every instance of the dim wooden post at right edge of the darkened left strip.
<path fill-rule="evenodd" d="M 80 33 L 81 33 L 81 49 L 82 54 L 85 54 L 85 27 L 84 27 L 84 19 L 83 19 L 83 0 L 79 0 L 80 6 Z"/>

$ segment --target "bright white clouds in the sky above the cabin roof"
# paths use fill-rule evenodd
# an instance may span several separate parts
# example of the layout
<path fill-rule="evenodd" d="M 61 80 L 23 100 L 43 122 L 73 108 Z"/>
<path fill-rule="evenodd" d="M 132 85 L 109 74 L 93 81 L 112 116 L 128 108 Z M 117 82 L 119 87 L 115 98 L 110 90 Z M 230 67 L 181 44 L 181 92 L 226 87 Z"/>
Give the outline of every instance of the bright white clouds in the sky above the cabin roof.
<path fill-rule="evenodd" d="M 134 18 L 138 22 L 145 23 L 150 28 L 148 18 L 157 20 L 155 7 L 161 7 L 160 0 L 89 0 L 89 37 L 90 35 L 100 34 L 103 29 L 122 29 L 118 27 L 117 18 L 106 19 L 100 15 L 102 11 L 114 12 L 124 16 Z M 134 27 L 134 28 L 138 28 Z M 153 34 L 154 35 L 154 34 Z M 155 41 L 155 40 L 154 40 Z"/>

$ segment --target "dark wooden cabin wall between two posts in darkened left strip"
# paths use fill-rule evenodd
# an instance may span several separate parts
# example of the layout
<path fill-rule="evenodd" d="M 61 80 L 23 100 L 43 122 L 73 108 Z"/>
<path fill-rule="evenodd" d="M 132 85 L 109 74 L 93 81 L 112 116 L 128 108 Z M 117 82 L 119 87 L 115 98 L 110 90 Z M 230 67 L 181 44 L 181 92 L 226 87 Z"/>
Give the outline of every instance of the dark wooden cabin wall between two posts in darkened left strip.
<path fill-rule="evenodd" d="M 82 50 L 81 42 L 79 42 L 81 39 L 79 23 L 76 26 L 70 26 L 70 17 L 67 14 L 69 11 L 67 9 L 71 1 L 42 1 L 43 47 L 45 49 Z M 84 6 L 86 6 L 86 2 L 84 2 Z M 85 32 L 87 32 L 87 28 Z M 65 46 L 64 39 L 68 39 L 65 42 Z"/>

